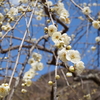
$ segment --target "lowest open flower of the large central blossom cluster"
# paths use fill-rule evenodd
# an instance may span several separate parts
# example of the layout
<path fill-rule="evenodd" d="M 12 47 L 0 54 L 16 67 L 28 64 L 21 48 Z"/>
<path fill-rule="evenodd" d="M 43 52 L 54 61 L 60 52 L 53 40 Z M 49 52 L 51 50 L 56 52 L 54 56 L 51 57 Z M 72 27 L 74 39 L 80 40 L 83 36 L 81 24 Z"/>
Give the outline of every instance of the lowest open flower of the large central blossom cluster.
<path fill-rule="evenodd" d="M 83 70 L 84 70 L 85 66 L 84 63 L 82 61 L 79 61 L 75 64 L 75 72 L 80 75 Z"/>

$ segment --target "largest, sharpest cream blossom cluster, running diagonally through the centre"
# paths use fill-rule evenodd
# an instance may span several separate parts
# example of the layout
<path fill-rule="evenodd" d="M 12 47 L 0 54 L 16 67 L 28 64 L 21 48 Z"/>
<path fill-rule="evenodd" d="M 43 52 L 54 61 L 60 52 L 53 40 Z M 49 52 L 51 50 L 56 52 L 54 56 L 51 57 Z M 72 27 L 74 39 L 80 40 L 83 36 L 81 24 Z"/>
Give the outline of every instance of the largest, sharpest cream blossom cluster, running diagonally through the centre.
<path fill-rule="evenodd" d="M 64 63 L 66 63 L 67 61 L 73 63 L 74 65 L 69 67 L 69 71 L 74 71 L 78 75 L 80 75 L 85 66 L 81 61 L 80 53 L 77 50 L 71 50 L 71 45 L 69 45 L 71 37 L 66 33 L 61 34 L 61 32 L 57 31 L 57 27 L 55 25 L 49 25 L 47 30 L 48 35 L 51 36 L 52 41 L 55 43 L 55 46 L 59 49 L 59 59 Z"/>

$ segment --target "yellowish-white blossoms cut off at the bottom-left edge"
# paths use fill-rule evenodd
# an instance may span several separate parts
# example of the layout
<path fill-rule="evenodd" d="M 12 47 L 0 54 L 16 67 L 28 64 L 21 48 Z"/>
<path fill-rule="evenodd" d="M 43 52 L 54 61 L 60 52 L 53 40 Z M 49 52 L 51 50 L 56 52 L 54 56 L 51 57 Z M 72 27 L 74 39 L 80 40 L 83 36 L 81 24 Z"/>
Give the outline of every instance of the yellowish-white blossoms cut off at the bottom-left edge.
<path fill-rule="evenodd" d="M 0 85 L 0 97 L 3 98 L 9 94 L 10 87 L 7 83 L 2 83 Z"/>

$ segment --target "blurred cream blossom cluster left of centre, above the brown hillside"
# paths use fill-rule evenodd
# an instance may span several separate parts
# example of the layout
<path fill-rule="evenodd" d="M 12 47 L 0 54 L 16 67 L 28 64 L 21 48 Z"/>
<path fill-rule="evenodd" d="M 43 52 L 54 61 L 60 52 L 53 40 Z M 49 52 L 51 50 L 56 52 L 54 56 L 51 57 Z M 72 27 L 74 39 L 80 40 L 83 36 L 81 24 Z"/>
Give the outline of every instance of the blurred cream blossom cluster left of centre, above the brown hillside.
<path fill-rule="evenodd" d="M 25 83 L 22 84 L 22 86 L 30 86 L 32 81 L 31 79 L 34 78 L 37 75 L 36 71 L 41 71 L 43 67 L 43 63 L 41 63 L 42 55 L 38 54 L 36 52 L 33 52 L 31 55 L 31 58 L 28 60 L 28 64 L 31 65 L 31 68 L 25 72 L 23 76 L 23 81 Z"/>

